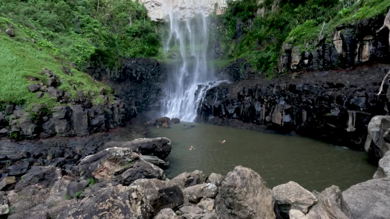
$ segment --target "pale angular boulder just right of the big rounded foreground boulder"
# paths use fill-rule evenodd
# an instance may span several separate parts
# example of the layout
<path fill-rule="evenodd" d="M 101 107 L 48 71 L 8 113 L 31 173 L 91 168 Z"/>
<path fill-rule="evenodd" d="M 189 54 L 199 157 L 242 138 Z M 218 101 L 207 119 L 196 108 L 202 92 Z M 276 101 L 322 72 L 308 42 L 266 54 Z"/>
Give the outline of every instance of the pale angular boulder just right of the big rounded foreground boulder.
<path fill-rule="evenodd" d="M 317 203 L 316 196 L 293 181 L 275 186 L 272 191 L 279 210 L 287 215 L 290 209 L 307 214 L 310 207 Z"/>

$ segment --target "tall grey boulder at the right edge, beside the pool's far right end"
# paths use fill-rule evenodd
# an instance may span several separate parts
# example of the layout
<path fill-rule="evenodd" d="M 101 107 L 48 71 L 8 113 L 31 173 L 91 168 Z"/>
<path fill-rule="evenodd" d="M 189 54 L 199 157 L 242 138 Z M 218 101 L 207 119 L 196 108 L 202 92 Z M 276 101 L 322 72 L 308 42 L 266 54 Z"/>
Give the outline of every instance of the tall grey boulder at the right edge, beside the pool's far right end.
<path fill-rule="evenodd" d="M 385 141 L 389 138 L 390 116 L 373 117 L 367 127 L 367 140 L 364 149 L 372 156 L 381 158 L 388 150 L 390 143 Z"/>

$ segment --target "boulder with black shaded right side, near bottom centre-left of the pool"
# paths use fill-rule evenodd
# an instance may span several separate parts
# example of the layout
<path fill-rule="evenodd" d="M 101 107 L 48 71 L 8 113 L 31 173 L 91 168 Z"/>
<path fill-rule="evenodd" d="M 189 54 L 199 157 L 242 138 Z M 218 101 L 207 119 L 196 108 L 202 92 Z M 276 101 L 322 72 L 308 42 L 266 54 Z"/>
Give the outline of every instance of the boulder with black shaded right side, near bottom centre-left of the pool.
<path fill-rule="evenodd" d="M 145 189 L 148 205 L 152 206 L 149 214 L 156 215 L 164 208 L 176 208 L 184 203 L 180 187 L 170 181 L 158 179 L 139 179 L 131 187 Z"/>

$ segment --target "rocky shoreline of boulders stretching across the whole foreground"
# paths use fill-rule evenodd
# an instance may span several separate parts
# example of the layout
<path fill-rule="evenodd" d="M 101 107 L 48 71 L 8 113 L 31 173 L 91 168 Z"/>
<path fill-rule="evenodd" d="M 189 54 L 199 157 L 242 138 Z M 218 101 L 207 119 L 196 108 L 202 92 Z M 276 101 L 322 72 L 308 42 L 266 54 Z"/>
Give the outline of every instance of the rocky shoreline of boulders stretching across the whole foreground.
<path fill-rule="evenodd" d="M 163 160 L 172 150 L 171 141 L 138 138 L 143 135 L 140 127 L 132 130 L 127 138 L 137 138 L 132 141 L 115 138 L 121 129 L 89 137 L 3 140 L 0 217 L 389 218 L 390 152 L 380 159 L 374 179 L 346 191 L 333 185 L 310 192 L 295 182 L 271 189 L 258 173 L 242 166 L 226 176 L 196 170 L 169 180 L 161 168 L 167 165 Z M 6 148 L 15 151 L 4 154 Z"/>

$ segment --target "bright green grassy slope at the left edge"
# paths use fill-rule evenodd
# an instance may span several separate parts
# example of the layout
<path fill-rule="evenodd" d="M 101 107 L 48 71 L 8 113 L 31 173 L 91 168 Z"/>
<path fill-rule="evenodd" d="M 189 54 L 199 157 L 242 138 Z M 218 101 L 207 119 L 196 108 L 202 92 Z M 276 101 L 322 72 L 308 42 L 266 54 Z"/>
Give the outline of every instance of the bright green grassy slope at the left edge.
<path fill-rule="evenodd" d="M 5 29 L 9 28 L 9 25 L 14 26 L 15 37 L 13 39 L 5 34 Z M 0 32 L 0 104 L 2 104 L 2 108 L 9 103 L 25 104 L 27 107 L 36 104 L 44 104 L 48 107 L 58 105 L 58 102 L 55 102 L 55 99 L 48 97 L 48 95 L 37 99 L 36 94 L 28 91 L 29 83 L 36 82 L 30 81 L 26 77 L 33 76 L 45 83 L 47 77 L 40 74 L 44 68 L 56 74 L 62 80 L 62 85 L 59 88 L 69 92 L 73 97 L 76 97 L 76 91 L 72 88 L 72 85 L 75 85 L 78 90 L 95 93 L 94 103 L 102 101 L 99 97 L 99 88 L 103 84 L 94 81 L 88 74 L 71 68 L 67 62 L 56 60 L 50 54 L 50 49 L 43 48 L 42 51 L 39 51 L 39 46 L 34 44 L 21 28 L 8 19 L 0 18 L 0 30 L 2 30 Z M 62 66 L 71 69 L 73 76 L 64 74 L 61 70 Z M 78 85 L 80 81 L 83 85 Z M 106 89 L 110 88 L 106 87 Z"/>

